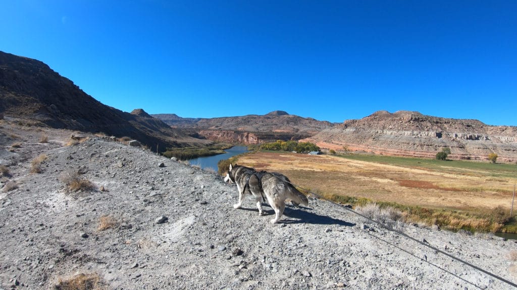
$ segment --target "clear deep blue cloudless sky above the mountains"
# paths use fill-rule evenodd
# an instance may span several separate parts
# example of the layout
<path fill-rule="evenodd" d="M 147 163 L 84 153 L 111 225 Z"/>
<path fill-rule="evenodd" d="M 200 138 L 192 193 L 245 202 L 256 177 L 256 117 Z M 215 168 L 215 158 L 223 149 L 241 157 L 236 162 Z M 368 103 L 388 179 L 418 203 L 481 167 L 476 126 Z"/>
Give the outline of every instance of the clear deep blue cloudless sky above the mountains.
<path fill-rule="evenodd" d="M 124 111 L 517 125 L 515 0 L 0 0 L 0 31 Z"/>

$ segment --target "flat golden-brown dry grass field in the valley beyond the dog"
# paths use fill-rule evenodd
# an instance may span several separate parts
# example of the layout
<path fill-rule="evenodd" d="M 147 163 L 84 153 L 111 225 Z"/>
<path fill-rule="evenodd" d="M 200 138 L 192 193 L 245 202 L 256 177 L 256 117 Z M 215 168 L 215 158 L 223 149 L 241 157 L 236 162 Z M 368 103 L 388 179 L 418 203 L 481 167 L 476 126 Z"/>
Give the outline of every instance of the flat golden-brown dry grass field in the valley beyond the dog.
<path fill-rule="evenodd" d="M 240 155 L 237 163 L 281 172 L 324 196 L 484 214 L 495 208 L 509 213 L 517 178 L 516 165 L 380 155 L 254 152 Z"/>

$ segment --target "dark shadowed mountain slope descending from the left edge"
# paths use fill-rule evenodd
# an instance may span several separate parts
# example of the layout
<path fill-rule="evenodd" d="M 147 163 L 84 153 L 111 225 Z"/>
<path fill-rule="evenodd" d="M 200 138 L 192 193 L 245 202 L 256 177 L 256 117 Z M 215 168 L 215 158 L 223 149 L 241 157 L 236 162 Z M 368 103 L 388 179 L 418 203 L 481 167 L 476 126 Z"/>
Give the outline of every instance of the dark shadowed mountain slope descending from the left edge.
<path fill-rule="evenodd" d="M 0 52 L 0 113 L 54 128 L 129 136 L 151 148 L 208 143 L 174 130 L 142 109 L 106 106 L 45 63 Z"/>

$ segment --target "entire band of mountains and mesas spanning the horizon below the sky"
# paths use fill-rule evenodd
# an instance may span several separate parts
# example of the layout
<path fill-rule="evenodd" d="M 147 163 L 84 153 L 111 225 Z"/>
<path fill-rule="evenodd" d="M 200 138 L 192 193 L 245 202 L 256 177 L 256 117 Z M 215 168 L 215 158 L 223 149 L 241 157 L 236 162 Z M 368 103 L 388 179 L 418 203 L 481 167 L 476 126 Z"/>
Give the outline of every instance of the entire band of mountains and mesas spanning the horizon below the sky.
<path fill-rule="evenodd" d="M 443 147 L 451 158 L 517 162 L 517 126 L 492 126 L 478 120 L 440 118 L 416 111 L 377 111 L 343 123 L 318 121 L 272 111 L 266 115 L 181 118 L 175 114 L 131 113 L 106 106 L 45 63 L 0 52 L 0 119 L 24 118 L 86 132 L 129 136 L 160 151 L 202 146 L 211 141 L 256 144 L 302 140 L 321 148 L 433 158 Z"/>

